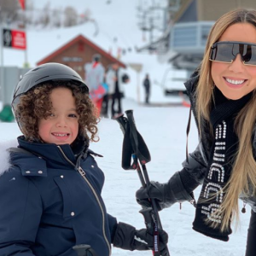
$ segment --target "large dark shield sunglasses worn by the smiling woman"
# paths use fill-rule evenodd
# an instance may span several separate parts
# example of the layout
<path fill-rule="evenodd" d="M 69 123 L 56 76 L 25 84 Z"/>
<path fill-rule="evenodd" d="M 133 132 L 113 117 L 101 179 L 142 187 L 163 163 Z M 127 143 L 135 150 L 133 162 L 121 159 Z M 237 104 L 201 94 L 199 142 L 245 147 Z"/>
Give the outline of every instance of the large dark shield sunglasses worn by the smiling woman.
<path fill-rule="evenodd" d="M 232 63 L 238 54 L 244 65 L 256 66 L 256 44 L 244 42 L 223 41 L 212 44 L 209 60 Z"/>

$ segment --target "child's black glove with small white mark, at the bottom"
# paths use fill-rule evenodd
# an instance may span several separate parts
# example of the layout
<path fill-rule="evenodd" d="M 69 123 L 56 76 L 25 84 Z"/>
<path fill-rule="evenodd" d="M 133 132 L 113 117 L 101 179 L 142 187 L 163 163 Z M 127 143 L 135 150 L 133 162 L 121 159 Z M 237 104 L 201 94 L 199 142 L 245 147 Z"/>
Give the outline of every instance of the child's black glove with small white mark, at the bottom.
<path fill-rule="evenodd" d="M 154 248 L 154 236 L 147 229 L 136 230 L 133 226 L 119 222 L 113 237 L 113 246 L 125 250 L 146 251 Z M 161 255 L 166 255 L 168 235 L 159 230 L 159 248 Z"/>

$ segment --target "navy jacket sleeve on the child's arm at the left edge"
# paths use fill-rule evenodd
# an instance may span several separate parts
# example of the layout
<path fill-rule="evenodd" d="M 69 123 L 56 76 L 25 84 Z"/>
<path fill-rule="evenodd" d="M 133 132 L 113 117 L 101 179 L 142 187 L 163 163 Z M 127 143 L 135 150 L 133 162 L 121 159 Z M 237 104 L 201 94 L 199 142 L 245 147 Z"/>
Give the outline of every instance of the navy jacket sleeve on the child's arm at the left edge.
<path fill-rule="evenodd" d="M 0 255 L 34 255 L 35 242 L 43 212 L 38 189 L 20 171 L 0 177 Z"/>

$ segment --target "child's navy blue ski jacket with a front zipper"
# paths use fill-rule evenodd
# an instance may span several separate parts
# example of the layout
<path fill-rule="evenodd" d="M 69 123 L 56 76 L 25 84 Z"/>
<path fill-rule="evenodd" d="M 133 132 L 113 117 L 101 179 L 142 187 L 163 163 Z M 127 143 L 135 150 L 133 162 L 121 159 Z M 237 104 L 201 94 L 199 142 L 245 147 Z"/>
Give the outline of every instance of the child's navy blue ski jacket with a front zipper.
<path fill-rule="evenodd" d="M 102 201 L 104 174 L 88 147 L 28 143 L 10 152 L 0 177 L 0 255 L 77 256 L 73 246 L 111 253 L 117 225 Z"/>

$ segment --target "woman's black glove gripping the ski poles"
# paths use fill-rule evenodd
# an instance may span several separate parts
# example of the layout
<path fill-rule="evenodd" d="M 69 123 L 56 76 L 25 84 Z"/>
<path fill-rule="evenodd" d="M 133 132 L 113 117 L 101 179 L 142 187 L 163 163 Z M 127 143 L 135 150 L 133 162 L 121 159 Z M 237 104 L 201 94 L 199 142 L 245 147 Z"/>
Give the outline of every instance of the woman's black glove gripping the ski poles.
<path fill-rule="evenodd" d="M 151 182 L 148 189 L 141 188 L 136 192 L 137 202 L 143 207 L 151 207 L 148 198 L 154 198 L 158 210 L 171 207 L 177 201 L 193 201 L 194 195 L 187 192 L 180 178 L 180 174 L 176 172 L 168 181 L 168 183 Z"/>

